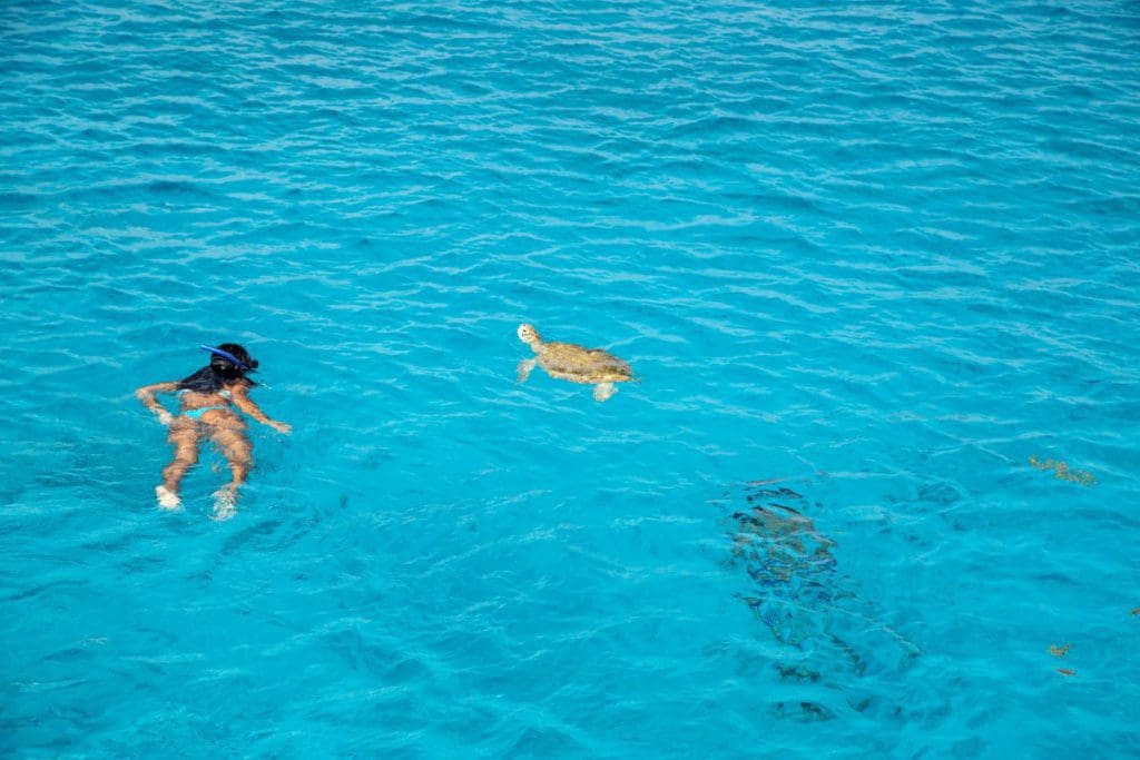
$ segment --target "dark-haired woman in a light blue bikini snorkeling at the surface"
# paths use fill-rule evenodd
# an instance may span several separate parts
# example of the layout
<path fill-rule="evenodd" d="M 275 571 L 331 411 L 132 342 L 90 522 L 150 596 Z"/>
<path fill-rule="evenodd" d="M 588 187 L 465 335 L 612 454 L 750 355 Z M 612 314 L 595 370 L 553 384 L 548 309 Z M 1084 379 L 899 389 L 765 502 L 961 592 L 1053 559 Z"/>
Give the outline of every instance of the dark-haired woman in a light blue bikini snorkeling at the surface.
<path fill-rule="evenodd" d="M 174 447 L 173 460 L 162 471 L 162 485 L 154 489 L 158 506 L 165 509 L 181 506 L 178 484 L 198 460 L 198 442 L 209 438 L 226 456 L 234 476 L 228 485 L 214 493 L 217 516 L 228 517 L 237 502 L 237 489 L 253 464 L 253 447 L 245 436 L 245 423 L 234 407 L 282 433 L 292 428 L 267 417 L 250 399 L 250 389 L 256 383 L 246 374 L 256 369 L 258 361 L 249 351 L 236 343 L 222 343 L 218 348 L 203 345 L 202 350 L 211 354 L 209 365 L 177 383 L 145 385 L 135 395 L 170 428 L 166 440 Z M 179 414 L 171 415 L 158 403 L 154 398 L 157 393 L 177 393 L 181 401 Z"/>

